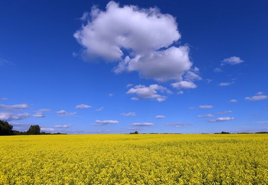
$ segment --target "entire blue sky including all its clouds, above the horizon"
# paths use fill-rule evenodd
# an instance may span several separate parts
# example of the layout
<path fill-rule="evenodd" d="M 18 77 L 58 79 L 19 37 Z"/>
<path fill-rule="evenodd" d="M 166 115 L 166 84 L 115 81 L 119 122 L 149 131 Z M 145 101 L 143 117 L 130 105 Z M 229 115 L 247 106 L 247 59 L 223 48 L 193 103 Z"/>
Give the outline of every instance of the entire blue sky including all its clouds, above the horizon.
<path fill-rule="evenodd" d="M 268 131 L 267 8 L 1 1 L 0 119 L 65 133 Z"/>

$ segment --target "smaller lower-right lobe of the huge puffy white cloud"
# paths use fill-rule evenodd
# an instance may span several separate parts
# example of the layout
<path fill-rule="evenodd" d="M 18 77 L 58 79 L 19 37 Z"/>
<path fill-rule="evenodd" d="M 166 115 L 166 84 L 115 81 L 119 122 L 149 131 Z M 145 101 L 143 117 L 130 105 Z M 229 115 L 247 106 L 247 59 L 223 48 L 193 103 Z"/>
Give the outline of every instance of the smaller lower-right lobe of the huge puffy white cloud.
<path fill-rule="evenodd" d="M 167 80 L 182 80 L 182 74 L 190 70 L 192 63 L 189 59 L 187 46 L 170 47 L 167 50 L 156 51 L 150 56 L 126 57 L 115 68 L 115 73 L 122 71 L 137 71 L 141 77 L 153 78 L 164 82 Z"/>

